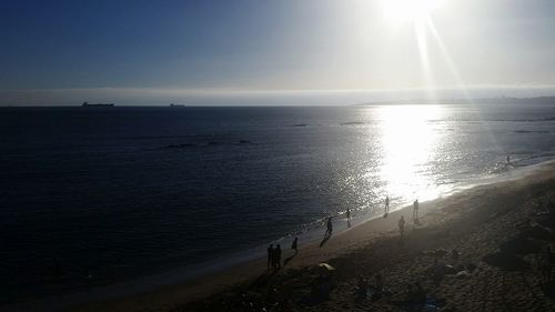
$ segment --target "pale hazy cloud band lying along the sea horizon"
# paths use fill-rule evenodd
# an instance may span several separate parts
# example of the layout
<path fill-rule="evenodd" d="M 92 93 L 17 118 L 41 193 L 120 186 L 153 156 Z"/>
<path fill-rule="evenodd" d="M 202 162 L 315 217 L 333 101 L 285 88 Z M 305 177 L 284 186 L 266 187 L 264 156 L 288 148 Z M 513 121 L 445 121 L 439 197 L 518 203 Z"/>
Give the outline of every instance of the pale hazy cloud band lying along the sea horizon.
<path fill-rule="evenodd" d="M 433 90 L 434 92 L 430 92 Z M 433 94 L 433 95 L 431 95 Z M 29 89 L 0 91 L 0 105 L 75 105 L 84 101 L 119 105 L 345 105 L 391 101 L 535 98 L 555 94 L 555 85 L 475 85 L 412 89 Z"/>

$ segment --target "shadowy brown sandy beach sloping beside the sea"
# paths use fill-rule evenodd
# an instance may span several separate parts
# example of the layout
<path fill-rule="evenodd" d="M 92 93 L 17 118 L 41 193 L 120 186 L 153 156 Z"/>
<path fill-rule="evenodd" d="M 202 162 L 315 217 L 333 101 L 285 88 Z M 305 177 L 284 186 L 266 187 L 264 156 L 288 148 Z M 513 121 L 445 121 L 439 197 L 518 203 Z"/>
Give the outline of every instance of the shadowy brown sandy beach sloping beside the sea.
<path fill-rule="evenodd" d="M 334 234 L 323 245 L 301 242 L 296 255 L 287 243 L 286 263 L 278 272 L 269 272 L 260 259 L 68 311 L 406 311 L 407 284 L 416 282 L 440 311 L 555 311 L 549 296 L 555 288 L 538 272 L 542 249 L 554 238 L 554 172 L 555 163 L 547 162 L 517 179 L 423 202 L 420 224 L 407 207 Z M 397 230 L 401 215 L 407 221 L 404 239 Z M 325 298 L 314 298 L 321 262 L 336 270 L 326 273 Z M 432 279 L 438 265 L 440 282 Z M 372 289 L 376 274 L 383 276 L 384 294 L 357 298 L 361 276 Z"/>

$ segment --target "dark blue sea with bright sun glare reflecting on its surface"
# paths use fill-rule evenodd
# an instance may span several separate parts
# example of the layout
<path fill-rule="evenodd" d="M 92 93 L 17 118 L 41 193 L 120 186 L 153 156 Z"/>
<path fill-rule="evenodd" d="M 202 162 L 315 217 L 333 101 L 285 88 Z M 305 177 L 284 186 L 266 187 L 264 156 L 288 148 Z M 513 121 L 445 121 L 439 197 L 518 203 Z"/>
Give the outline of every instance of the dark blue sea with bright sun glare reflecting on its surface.
<path fill-rule="evenodd" d="M 1 306 L 302 244 L 347 209 L 553 159 L 555 103 L 0 108 L 0 138 Z"/>

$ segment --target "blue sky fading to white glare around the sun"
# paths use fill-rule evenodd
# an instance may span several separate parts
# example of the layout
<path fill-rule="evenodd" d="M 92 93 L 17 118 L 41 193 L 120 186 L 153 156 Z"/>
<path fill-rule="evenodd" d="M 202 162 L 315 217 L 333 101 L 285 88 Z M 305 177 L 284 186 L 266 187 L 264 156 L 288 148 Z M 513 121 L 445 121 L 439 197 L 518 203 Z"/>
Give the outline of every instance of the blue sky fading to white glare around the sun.
<path fill-rule="evenodd" d="M 549 95 L 554 16 L 549 0 L 0 0 L 0 104 Z"/>

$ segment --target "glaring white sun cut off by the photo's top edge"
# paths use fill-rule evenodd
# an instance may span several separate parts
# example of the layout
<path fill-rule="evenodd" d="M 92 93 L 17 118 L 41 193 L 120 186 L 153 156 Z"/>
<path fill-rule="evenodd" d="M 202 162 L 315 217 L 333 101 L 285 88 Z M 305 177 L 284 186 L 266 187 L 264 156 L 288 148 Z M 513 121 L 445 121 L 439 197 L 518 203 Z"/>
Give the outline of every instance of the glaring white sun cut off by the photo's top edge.
<path fill-rule="evenodd" d="M 440 0 L 382 0 L 385 18 L 394 23 L 420 22 L 440 6 Z"/>

